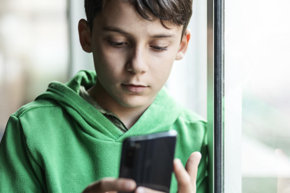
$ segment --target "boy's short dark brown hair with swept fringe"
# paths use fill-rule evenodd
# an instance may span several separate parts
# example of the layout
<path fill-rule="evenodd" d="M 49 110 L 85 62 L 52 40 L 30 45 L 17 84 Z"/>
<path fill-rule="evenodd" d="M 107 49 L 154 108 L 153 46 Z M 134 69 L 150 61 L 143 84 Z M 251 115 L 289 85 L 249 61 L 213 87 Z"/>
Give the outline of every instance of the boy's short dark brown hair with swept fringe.
<path fill-rule="evenodd" d="M 93 28 L 93 19 L 103 10 L 106 0 L 85 0 L 85 13 L 90 29 Z M 182 35 L 192 15 L 192 0 L 124 0 L 135 6 L 138 13 L 146 20 L 152 21 L 150 16 L 183 27 Z M 166 27 L 168 28 L 168 27 Z"/>

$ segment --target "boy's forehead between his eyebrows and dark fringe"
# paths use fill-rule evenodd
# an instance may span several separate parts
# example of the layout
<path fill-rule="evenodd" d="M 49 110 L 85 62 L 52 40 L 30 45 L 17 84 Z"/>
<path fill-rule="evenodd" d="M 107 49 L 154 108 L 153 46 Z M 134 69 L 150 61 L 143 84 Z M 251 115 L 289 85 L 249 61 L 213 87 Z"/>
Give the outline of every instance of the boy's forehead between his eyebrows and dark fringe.
<path fill-rule="evenodd" d="M 132 33 L 172 33 L 175 36 L 181 36 L 181 27 L 165 21 L 164 27 L 159 18 L 150 16 L 150 20 L 144 19 L 136 10 L 134 5 L 124 2 L 124 0 L 106 1 L 103 11 L 97 14 L 94 19 L 94 26 L 99 27 L 117 27 Z"/>

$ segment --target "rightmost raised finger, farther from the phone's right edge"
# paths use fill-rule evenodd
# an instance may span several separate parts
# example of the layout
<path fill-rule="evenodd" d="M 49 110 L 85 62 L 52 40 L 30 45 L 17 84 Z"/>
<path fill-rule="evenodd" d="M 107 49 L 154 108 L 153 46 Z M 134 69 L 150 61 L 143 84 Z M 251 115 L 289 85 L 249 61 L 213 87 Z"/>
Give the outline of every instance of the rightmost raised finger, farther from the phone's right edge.
<path fill-rule="evenodd" d="M 198 171 L 198 165 L 200 163 L 200 160 L 201 160 L 201 153 L 198 151 L 195 151 L 189 156 L 185 164 L 185 169 L 191 178 L 192 184 L 194 185 L 196 185 L 197 171 Z"/>

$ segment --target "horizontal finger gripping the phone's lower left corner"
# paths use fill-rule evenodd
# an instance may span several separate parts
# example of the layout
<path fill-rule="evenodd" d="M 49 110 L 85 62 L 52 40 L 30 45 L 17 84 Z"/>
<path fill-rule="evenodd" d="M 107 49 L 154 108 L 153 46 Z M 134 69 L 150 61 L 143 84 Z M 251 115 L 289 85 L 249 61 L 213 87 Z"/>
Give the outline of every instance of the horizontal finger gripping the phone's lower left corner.
<path fill-rule="evenodd" d="M 107 191 L 124 191 L 130 192 L 136 188 L 136 182 L 132 179 L 125 178 L 104 178 L 98 182 L 89 185 L 83 193 L 94 192 L 94 193 L 104 193 Z"/>

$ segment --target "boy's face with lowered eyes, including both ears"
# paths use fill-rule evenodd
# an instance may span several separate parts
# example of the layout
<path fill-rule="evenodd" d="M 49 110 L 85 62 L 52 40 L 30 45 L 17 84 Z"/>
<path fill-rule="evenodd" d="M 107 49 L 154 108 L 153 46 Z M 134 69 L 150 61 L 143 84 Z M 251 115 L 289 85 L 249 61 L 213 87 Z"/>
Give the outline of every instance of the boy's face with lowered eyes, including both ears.
<path fill-rule="evenodd" d="M 79 27 L 83 49 L 93 52 L 99 83 L 122 106 L 150 105 L 174 60 L 182 59 L 190 33 L 180 42 L 182 27 L 165 24 L 170 29 L 159 19 L 147 21 L 133 5 L 118 0 L 106 2 L 94 18 L 91 36 L 89 27 Z"/>

